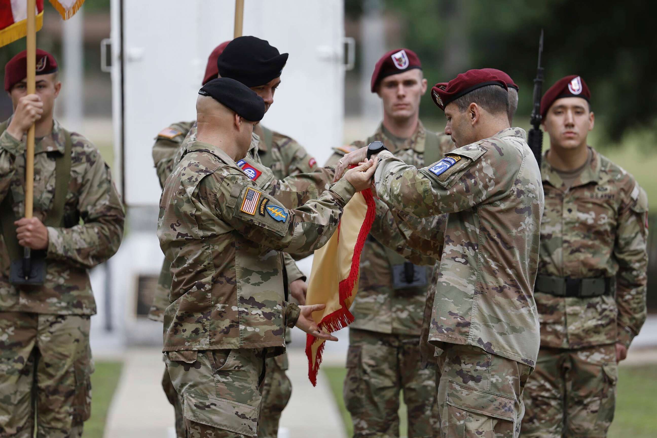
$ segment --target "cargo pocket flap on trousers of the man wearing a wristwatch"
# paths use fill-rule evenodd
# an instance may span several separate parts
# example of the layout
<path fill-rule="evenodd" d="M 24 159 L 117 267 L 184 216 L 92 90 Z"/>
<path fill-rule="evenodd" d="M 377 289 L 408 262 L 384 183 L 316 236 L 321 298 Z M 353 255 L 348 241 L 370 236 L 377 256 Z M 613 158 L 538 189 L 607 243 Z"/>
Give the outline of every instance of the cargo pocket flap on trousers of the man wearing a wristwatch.
<path fill-rule="evenodd" d="M 489 417 L 515 422 L 515 400 L 506 395 L 449 381 L 447 404 Z"/>

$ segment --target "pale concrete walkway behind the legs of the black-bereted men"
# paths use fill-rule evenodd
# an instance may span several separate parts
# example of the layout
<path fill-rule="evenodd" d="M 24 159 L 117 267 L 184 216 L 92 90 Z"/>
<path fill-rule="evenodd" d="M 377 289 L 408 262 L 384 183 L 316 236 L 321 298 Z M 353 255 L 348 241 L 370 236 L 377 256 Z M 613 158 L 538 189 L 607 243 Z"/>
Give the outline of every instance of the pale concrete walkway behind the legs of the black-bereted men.
<path fill-rule="evenodd" d="M 292 399 L 283 411 L 279 438 L 344 438 L 340 412 L 326 377 L 317 387 L 307 376 L 306 354 L 290 349 Z M 344 363 L 344 361 L 340 360 Z M 173 408 L 160 381 L 164 362 L 160 349 L 132 348 L 124 353 L 124 368 L 108 413 L 105 438 L 175 438 Z"/>

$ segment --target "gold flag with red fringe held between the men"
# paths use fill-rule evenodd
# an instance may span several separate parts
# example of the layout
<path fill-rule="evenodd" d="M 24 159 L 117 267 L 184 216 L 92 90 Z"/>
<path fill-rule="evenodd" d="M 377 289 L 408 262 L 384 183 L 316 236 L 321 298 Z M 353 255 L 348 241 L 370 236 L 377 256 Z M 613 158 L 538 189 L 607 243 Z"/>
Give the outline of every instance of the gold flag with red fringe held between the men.
<path fill-rule="evenodd" d="M 306 304 L 326 304 L 324 310 L 313 313 L 313 319 L 329 333 L 353 322 L 349 307 L 358 290 L 361 251 L 374 222 L 374 208 L 371 189 L 356 193 L 344 207 L 338 230 L 313 256 Z M 317 384 L 324 342 L 313 335 L 306 337 L 308 377 L 313 385 Z"/>

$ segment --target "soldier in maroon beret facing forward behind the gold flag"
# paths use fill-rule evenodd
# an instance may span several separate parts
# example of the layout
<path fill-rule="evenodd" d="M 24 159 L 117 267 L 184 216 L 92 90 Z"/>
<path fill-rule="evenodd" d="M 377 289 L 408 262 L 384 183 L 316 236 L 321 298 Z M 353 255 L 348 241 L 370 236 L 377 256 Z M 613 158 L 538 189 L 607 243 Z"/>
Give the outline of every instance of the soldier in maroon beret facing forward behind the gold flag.
<path fill-rule="evenodd" d="M 420 121 L 426 79 L 413 51 L 395 49 L 383 55 L 374 66 L 371 91 L 381 98 L 382 123 L 367 140 L 336 148 L 327 166 L 373 141 L 382 141 L 396 157 L 417 167 L 438 161 L 452 149 L 447 135 L 426 130 Z M 363 247 L 359 290 L 350 308 L 355 320 L 349 329 L 344 402 L 353 436 L 398 437 L 403 389 L 409 438 L 434 437 L 436 370 L 420 366 L 419 345 L 431 266 L 414 265 L 374 234 Z"/>

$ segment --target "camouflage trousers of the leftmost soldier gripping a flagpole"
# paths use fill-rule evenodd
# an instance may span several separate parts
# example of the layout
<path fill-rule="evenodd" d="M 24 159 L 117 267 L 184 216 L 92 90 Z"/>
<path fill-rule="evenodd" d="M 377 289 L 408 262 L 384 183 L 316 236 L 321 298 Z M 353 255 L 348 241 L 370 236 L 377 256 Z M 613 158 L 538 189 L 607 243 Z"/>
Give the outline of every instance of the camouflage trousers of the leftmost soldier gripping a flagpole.
<path fill-rule="evenodd" d="M 89 316 L 0 312 L 0 437 L 32 438 L 35 428 L 39 438 L 81 437 L 90 325 Z"/>

